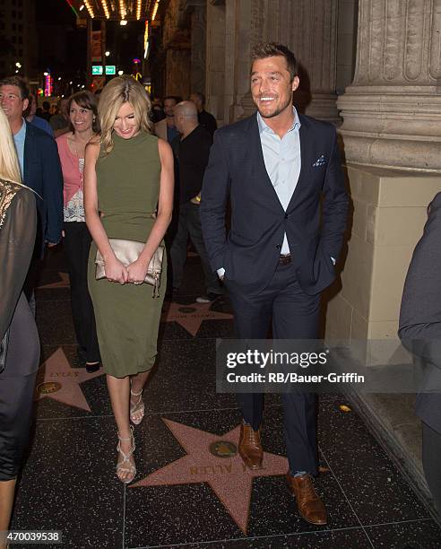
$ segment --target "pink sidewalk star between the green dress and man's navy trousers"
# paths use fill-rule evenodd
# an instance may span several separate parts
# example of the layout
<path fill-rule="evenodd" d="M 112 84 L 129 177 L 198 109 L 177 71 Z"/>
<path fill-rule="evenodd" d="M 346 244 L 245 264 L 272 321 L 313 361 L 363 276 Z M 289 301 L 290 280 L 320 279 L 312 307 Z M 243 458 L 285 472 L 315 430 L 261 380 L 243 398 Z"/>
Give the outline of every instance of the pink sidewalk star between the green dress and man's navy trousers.
<path fill-rule="evenodd" d="M 177 322 L 191 335 L 195 336 L 203 323 L 203 320 L 231 320 L 233 315 L 210 310 L 212 303 L 165 303 L 162 311 L 162 322 Z"/>

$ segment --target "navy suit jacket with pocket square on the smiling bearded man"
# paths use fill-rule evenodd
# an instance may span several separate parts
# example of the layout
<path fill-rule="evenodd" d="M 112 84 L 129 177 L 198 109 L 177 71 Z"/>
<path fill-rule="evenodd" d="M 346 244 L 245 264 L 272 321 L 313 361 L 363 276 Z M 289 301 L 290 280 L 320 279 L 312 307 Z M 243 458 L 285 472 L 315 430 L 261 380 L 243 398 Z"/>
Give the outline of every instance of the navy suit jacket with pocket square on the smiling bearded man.
<path fill-rule="evenodd" d="M 256 115 L 214 134 L 203 179 L 203 238 L 212 269 L 225 268 L 228 282 L 249 295 L 270 283 L 285 232 L 304 292 L 322 292 L 335 277 L 332 257 L 340 255 L 348 213 L 336 131 L 315 118 L 299 118 L 301 170 L 286 212 L 266 172 Z"/>

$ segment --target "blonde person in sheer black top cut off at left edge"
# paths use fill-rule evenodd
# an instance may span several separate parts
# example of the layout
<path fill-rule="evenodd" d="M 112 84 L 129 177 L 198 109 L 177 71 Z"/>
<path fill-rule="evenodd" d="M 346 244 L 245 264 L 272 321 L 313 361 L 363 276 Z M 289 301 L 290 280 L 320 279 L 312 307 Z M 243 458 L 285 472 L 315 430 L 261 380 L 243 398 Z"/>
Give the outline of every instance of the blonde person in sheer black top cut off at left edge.
<path fill-rule="evenodd" d="M 34 193 L 20 181 L 13 138 L 0 110 L 0 532 L 11 517 L 39 367 L 39 335 L 22 292 L 37 212 Z"/>

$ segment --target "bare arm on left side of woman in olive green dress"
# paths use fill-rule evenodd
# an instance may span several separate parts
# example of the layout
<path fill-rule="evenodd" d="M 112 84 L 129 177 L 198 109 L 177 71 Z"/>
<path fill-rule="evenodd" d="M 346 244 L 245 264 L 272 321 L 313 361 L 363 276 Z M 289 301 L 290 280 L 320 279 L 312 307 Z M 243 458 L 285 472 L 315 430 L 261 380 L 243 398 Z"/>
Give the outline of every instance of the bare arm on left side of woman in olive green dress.
<path fill-rule="evenodd" d="M 108 280 L 118 283 L 127 282 L 127 270 L 117 260 L 108 241 L 108 235 L 99 218 L 97 173 L 95 166 L 99 155 L 99 144 L 89 143 L 84 153 L 84 213 L 91 237 L 104 259 L 104 270 Z"/>

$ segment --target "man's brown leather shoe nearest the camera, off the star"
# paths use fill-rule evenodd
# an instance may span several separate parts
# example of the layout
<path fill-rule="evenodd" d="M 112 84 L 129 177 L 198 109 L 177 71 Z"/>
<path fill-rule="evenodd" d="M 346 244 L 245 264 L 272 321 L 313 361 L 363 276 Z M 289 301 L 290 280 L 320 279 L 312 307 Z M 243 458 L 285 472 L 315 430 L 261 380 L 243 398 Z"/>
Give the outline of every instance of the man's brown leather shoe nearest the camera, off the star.
<path fill-rule="evenodd" d="M 316 494 L 310 475 L 286 475 L 288 487 L 297 501 L 298 512 L 311 524 L 324 525 L 327 523 L 324 502 Z"/>

